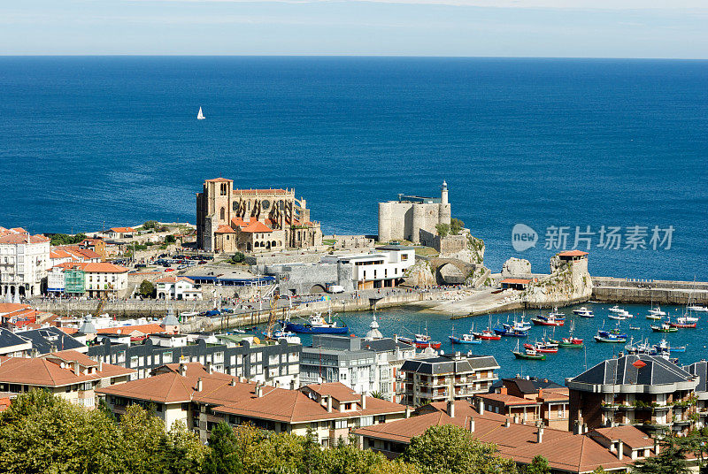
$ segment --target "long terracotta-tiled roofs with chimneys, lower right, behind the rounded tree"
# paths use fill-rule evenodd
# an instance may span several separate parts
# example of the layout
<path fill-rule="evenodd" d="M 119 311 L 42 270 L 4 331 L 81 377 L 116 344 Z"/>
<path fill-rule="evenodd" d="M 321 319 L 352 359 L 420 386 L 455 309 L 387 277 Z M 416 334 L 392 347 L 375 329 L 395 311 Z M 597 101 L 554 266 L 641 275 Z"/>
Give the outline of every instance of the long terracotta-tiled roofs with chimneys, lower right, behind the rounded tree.
<path fill-rule="evenodd" d="M 432 426 L 456 425 L 475 440 L 492 443 L 500 457 L 520 468 L 536 455 L 543 455 L 553 474 L 588 474 L 598 468 L 606 472 L 629 472 L 633 464 L 658 453 L 655 440 L 634 426 L 573 433 L 539 425 L 516 424 L 509 417 L 490 413 L 468 401 L 442 401 L 417 409 L 414 416 L 355 430 L 359 445 L 389 458 L 401 455 L 412 438 Z M 689 457 L 696 467 L 695 457 Z"/>

